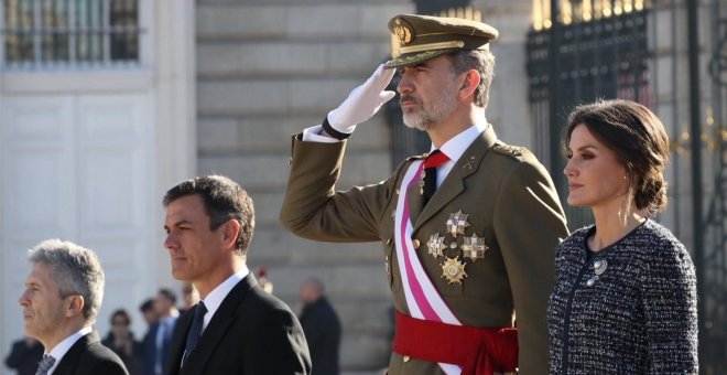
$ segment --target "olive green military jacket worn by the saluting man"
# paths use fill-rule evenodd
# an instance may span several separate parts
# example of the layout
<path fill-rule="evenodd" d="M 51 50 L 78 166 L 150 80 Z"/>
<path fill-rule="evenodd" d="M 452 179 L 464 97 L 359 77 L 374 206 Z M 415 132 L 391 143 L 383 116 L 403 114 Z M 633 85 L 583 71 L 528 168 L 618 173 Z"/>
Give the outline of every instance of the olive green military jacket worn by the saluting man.
<path fill-rule="evenodd" d="M 511 326 L 517 313 L 520 374 L 547 374 L 545 311 L 554 279 L 554 248 L 567 236 L 565 215 L 547 171 L 530 151 L 499 142 L 488 127 L 463 153 L 431 201 L 424 205 L 414 184 L 400 191 L 414 157 L 389 179 L 336 191 L 346 141 L 304 142 L 293 137 L 293 158 L 282 223 L 294 234 L 326 242 L 383 244 L 394 307 L 409 314 L 394 248 L 398 194 L 408 194 L 412 242 L 422 267 L 452 312 L 465 325 Z M 452 214 L 468 214 L 466 236 L 484 237 L 481 259 L 465 258 L 464 236 L 448 234 Z M 435 258 L 427 242 L 445 235 L 447 248 Z M 454 246 L 451 244 L 455 242 Z M 443 277 L 443 262 L 465 264 L 462 283 Z M 437 345 L 433 342 L 432 345 Z M 441 374 L 436 364 L 392 354 L 389 374 Z"/>

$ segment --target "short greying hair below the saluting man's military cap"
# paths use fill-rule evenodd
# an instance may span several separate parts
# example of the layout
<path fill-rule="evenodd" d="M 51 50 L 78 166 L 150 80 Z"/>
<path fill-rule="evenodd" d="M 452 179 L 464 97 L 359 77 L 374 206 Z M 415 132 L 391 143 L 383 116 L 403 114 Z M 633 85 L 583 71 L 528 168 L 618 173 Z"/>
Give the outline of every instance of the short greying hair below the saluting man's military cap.
<path fill-rule="evenodd" d="M 447 54 L 455 74 L 469 69 L 479 73 L 479 85 L 475 89 L 475 104 L 487 108 L 490 101 L 490 86 L 495 77 L 495 55 L 489 50 L 458 50 Z"/>

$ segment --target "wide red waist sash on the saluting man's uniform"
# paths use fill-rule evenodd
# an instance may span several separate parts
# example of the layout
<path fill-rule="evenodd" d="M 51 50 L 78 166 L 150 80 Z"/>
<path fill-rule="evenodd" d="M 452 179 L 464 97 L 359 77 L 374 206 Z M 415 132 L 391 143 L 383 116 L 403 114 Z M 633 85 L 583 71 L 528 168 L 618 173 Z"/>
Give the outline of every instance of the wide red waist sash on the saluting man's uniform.
<path fill-rule="evenodd" d="M 463 366 L 463 375 L 518 367 L 518 329 L 480 329 L 414 319 L 397 311 L 395 353 Z"/>

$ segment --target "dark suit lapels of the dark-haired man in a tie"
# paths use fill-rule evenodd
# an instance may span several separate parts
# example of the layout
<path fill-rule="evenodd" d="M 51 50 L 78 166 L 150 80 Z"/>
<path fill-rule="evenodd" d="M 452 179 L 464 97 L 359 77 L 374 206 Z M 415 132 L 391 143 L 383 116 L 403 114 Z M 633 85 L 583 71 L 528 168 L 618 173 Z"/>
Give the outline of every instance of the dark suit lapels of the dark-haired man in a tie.
<path fill-rule="evenodd" d="M 247 293 L 254 286 L 258 285 L 254 276 L 248 274 L 240 282 L 238 282 L 232 290 L 225 297 L 223 303 L 219 306 L 215 315 L 207 324 L 207 328 L 202 333 L 197 347 L 192 351 L 189 357 L 184 361 L 184 367 L 182 367 L 181 374 L 205 374 L 205 367 L 207 362 L 211 358 L 215 353 L 215 349 L 223 341 L 226 334 L 229 333 L 229 326 L 235 322 L 238 317 L 237 309 L 239 308 L 241 301 L 245 299 Z M 196 307 L 195 307 L 196 308 Z M 192 315 L 192 314 L 189 314 Z M 186 324 L 186 330 L 184 334 L 184 341 L 186 342 L 186 332 L 189 331 L 189 323 Z M 182 353 L 184 353 L 184 344 L 182 345 Z M 180 361 L 182 357 L 180 356 Z M 178 363 L 178 362 L 176 362 Z"/>

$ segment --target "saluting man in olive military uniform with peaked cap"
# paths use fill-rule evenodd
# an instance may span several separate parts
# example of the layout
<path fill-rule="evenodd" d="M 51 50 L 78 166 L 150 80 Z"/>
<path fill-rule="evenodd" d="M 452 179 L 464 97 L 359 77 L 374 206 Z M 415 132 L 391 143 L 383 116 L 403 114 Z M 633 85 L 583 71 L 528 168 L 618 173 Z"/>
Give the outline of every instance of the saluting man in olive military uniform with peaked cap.
<path fill-rule="evenodd" d="M 554 248 L 567 228 L 547 171 L 485 118 L 498 32 L 411 14 L 389 29 L 401 54 L 294 137 L 281 221 L 311 239 L 383 243 L 397 308 L 389 374 L 545 374 Z M 427 132 L 432 152 L 336 192 L 345 139 L 395 95 L 384 89 L 394 68 L 404 124 Z"/>

